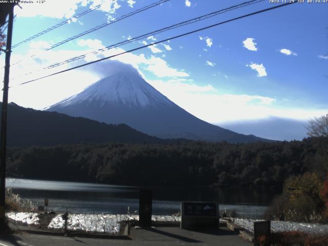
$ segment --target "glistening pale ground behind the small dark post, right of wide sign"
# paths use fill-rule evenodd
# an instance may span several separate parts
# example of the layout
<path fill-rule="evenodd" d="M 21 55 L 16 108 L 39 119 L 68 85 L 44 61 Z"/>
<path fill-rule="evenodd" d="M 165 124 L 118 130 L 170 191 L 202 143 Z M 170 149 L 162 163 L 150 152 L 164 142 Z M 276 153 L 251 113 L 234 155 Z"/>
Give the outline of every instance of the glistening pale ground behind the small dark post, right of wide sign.
<path fill-rule="evenodd" d="M 233 219 L 238 226 L 253 232 L 255 219 Z M 290 221 L 271 221 L 271 232 L 302 231 L 309 233 L 328 233 L 328 224 L 298 223 Z"/>

